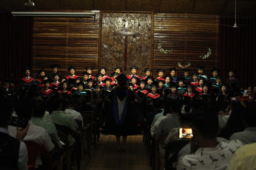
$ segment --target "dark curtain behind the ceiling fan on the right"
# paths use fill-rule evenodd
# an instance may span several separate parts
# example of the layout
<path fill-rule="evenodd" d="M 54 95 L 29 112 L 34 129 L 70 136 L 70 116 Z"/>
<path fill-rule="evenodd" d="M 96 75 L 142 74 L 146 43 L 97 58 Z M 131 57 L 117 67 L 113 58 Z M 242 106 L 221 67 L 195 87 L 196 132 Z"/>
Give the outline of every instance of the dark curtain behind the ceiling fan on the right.
<path fill-rule="evenodd" d="M 256 85 L 256 18 L 236 18 L 240 27 L 230 27 L 234 24 L 235 17 L 220 17 L 220 69 L 226 78 L 229 78 L 227 70 L 235 69 L 235 77 L 240 80 L 243 89 L 247 89 Z"/>

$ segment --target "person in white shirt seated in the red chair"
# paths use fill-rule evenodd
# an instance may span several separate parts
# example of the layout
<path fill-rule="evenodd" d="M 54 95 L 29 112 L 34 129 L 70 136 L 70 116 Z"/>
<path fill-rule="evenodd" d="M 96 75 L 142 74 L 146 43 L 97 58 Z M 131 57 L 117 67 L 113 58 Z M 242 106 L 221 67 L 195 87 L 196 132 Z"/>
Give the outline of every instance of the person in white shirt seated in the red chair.
<path fill-rule="evenodd" d="M 15 112 L 18 117 L 29 120 L 29 129 L 27 131 L 26 137 L 24 138 L 24 141 L 33 141 L 41 144 L 50 153 L 50 155 L 53 155 L 54 144 L 52 143 L 52 140 L 49 137 L 47 131 L 42 127 L 34 125 L 31 121 L 31 116 L 33 114 L 33 105 L 34 100 L 32 98 L 22 98 L 17 100 L 14 106 Z M 8 131 L 12 137 L 15 137 L 17 134 L 17 129 L 14 126 L 9 126 Z M 40 155 L 38 155 L 35 168 L 44 168 L 44 164 L 42 164 L 42 160 L 40 158 Z"/>

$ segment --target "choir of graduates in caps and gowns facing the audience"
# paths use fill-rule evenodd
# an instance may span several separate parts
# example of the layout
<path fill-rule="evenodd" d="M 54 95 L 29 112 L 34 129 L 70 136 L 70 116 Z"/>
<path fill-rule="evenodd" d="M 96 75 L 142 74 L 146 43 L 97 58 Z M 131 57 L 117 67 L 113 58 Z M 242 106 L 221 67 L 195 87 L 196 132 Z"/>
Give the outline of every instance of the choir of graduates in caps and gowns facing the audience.
<path fill-rule="evenodd" d="M 39 75 L 36 80 L 31 76 L 30 69 L 25 68 L 23 70 L 25 76 L 20 80 L 20 88 L 16 90 L 15 82 L 6 79 L 4 86 L 1 87 L 2 92 L 4 92 L 5 96 L 17 94 L 16 98 L 18 95 L 20 98 L 39 95 L 44 101 L 55 95 L 67 99 L 75 96 L 77 100 L 84 95 L 91 96 L 93 99 L 92 104 L 97 107 L 97 112 L 101 115 L 101 124 L 104 126 L 106 113 L 108 112 L 108 93 L 118 85 L 116 77 L 123 74 L 122 68 L 116 67 L 109 75 L 107 73 L 108 69 L 101 67 L 97 74 L 92 75 L 92 70 L 94 69 L 88 66 L 80 77 L 76 75 L 76 68 L 73 66 L 67 69 L 69 71 L 67 76 L 62 76 L 58 73 L 59 66 L 57 64 L 50 67 L 52 68 L 52 73 L 47 75 L 44 69 L 41 69 L 36 73 Z M 220 70 L 215 67 L 212 68 L 211 78 L 207 78 L 203 74 L 204 67 L 202 66 L 199 66 L 195 72 L 183 69 L 183 73 L 180 76 L 176 75 L 177 70 L 175 67 L 169 70 L 158 69 L 157 78 L 152 77 L 152 70 L 149 68 L 144 70 L 145 75 L 141 75 L 141 77 L 137 75 L 137 70 L 138 67 L 133 65 L 127 78 L 129 79 L 130 89 L 136 95 L 138 126 L 142 125 L 147 113 L 153 111 L 152 103 L 156 98 L 161 100 L 165 98 L 184 100 L 207 100 L 211 98 L 222 102 L 230 100 L 229 97 L 240 94 L 239 81 L 234 78 L 236 70 L 232 68 L 228 70 L 228 79 L 221 77 L 218 74 Z M 223 83 L 225 79 L 226 81 Z M 82 104 L 83 100 L 79 100 L 79 102 Z"/>

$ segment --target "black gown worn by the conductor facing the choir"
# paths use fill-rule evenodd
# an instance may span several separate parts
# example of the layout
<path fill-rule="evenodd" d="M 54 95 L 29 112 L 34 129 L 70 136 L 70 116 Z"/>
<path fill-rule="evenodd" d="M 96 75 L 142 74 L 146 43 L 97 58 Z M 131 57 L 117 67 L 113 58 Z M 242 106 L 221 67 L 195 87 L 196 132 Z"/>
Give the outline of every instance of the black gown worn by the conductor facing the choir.
<path fill-rule="evenodd" d="M 114 119 L 114 111 L 113 111 L 113 103 L 114 103 L 114 95 L 116 95 L 120 100 L 123 100 L 125 97 L 125 91 L 128 92 L 127 96 L 127 113 L 124 119 L 124 122 L 117 127 L 116 121 Z M 134 103 L 135 94 L 129 89 L 125 89 L 124 87 L 115 88 L 108 94 L 109 99 L 109 112 L 106 117 L 105 129 L 106 133 L 110 135 L 116 136 L 129 136 L 136 134 L 136 122 L 137 122 L 137 114 L 136 114 L 136 106 Z"/>

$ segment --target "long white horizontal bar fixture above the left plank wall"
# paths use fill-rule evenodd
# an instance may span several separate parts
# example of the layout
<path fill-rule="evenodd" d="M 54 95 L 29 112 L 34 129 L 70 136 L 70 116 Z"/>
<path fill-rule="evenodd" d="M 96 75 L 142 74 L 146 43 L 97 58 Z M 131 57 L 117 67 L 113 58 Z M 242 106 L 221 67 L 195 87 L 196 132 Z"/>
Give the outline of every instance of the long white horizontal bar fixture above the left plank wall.
<path fill-rule="evenodd" d="M 46 16 L 46 17 L 85 17 L 94 16 L 95 12 L 12 12 L 13 16 Z"/>

